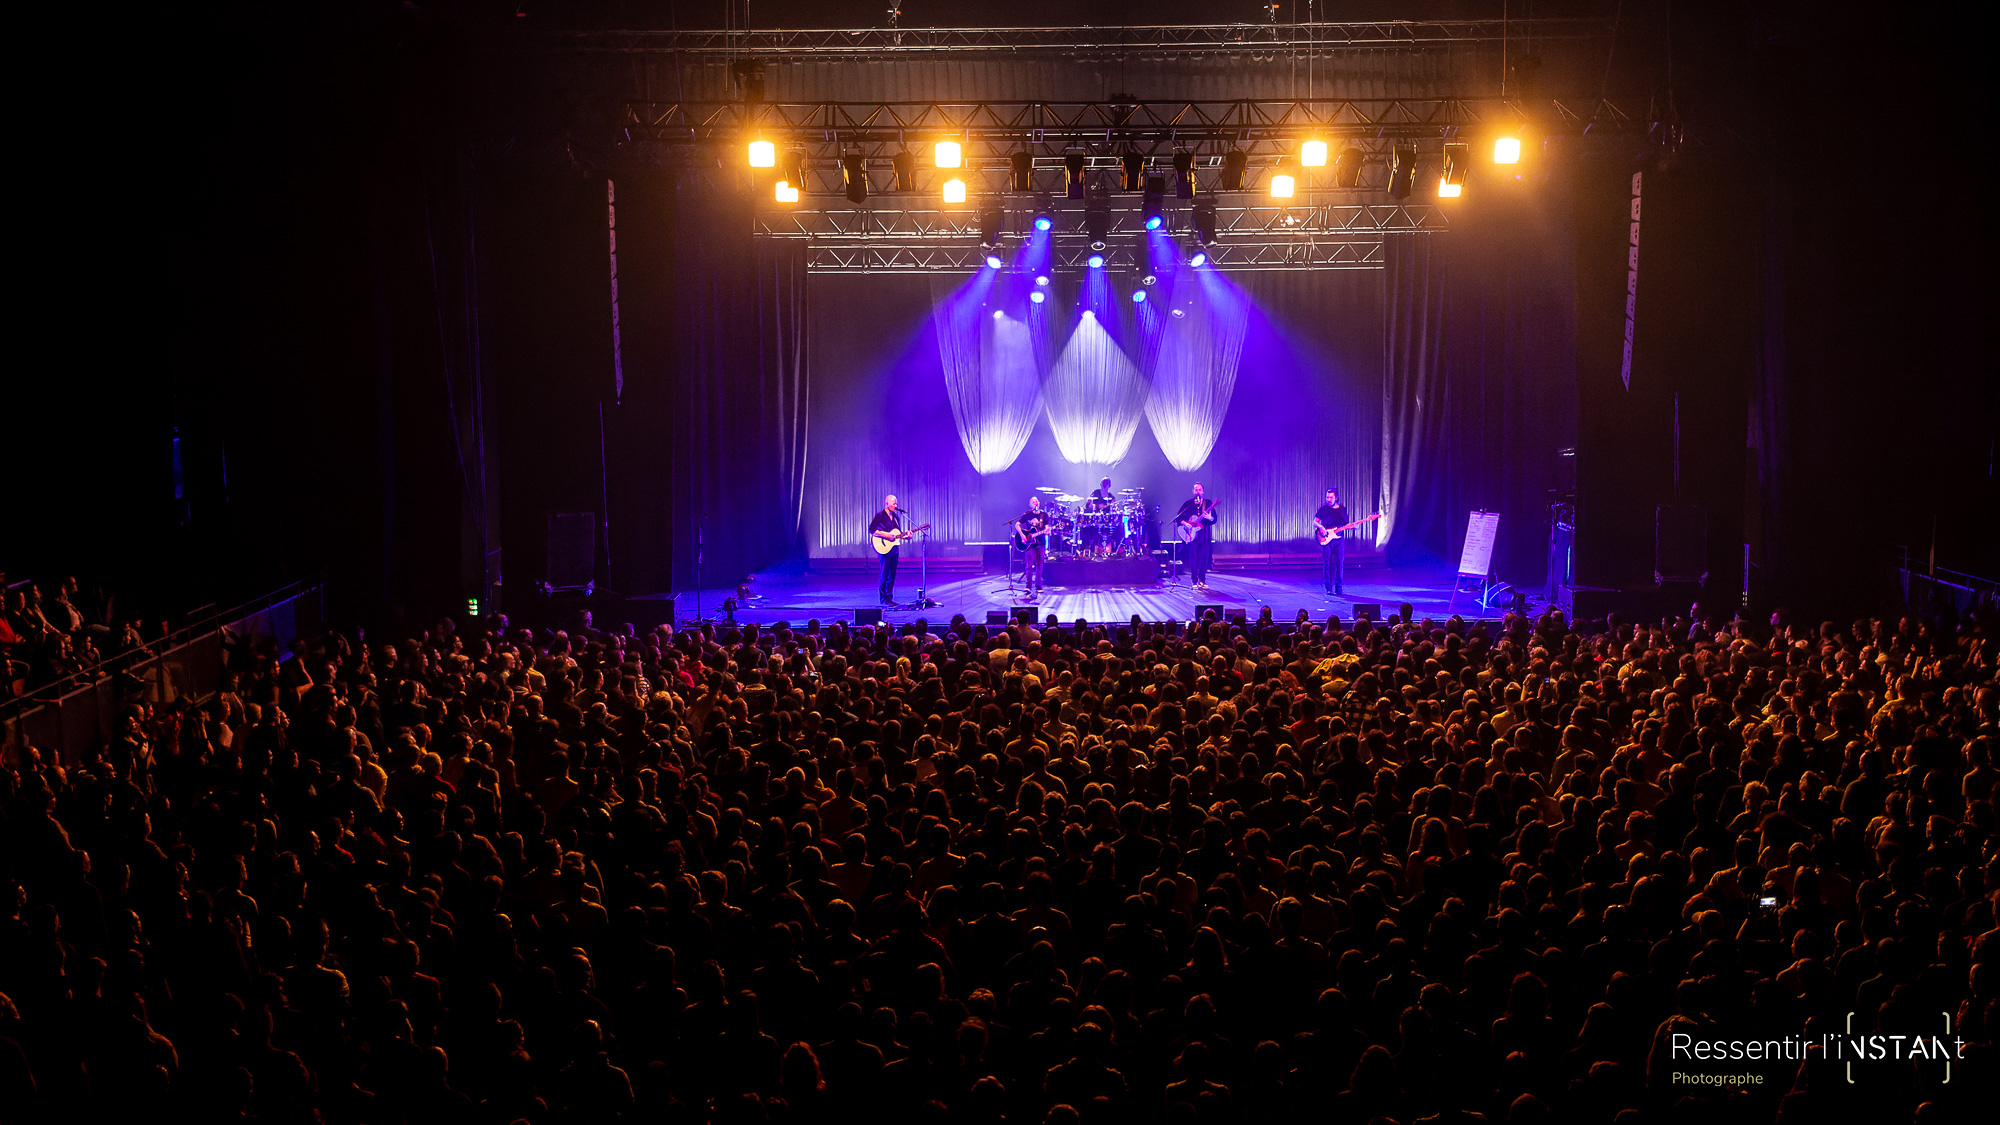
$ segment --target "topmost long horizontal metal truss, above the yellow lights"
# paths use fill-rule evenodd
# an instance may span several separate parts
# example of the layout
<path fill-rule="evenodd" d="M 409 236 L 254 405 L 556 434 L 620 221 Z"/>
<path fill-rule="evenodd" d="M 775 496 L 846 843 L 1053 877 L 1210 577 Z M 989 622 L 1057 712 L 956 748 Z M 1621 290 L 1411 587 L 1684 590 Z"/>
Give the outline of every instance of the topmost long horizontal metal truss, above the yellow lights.
<path fill-rule="evenodd" d="M 1294 54 L 1532 40 L 1604 38 L 1604 20 L 1434 20 L 1356 24 L 1206 24 L 1152 28 L 844 28 L 566 32 L 554 48 L 614 54 L 882 56 L 882 54 Z"/>

